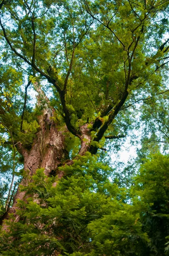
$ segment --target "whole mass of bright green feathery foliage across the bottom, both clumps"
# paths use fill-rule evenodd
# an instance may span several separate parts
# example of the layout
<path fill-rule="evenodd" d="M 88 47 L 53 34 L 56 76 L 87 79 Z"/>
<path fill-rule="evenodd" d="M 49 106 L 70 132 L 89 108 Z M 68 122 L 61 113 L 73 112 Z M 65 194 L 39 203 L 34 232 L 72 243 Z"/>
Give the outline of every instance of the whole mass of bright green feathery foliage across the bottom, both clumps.
<path fill-rule="evenodd" d="M 169 255 L 169 156 L 149 157 L 130 189 L 110 182 L 112 170 L 90 154 L 64 169 L 61 180 L 37 169 L 22 186 L 20 221 L 6 220 L 1 255 Z"/>

